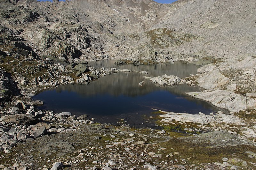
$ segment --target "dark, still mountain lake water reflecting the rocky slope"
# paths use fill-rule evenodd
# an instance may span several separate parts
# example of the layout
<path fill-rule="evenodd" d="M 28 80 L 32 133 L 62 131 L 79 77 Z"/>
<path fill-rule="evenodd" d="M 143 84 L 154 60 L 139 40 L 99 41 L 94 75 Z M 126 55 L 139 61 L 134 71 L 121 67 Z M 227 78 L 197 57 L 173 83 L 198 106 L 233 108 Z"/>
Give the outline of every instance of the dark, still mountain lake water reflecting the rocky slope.
<path fill-rule="evenodd" d="M 154 65 L 133 64 L 116 65 L 115 61 L 89 62 L 88 66 L 101 68 L 130 69 L 135 71 L 147 71 L 148 74 L 118 72 L 106 75 L 88 85 L 58 86 L 34 96 L 35 100 L 43 100 L 43 109 L 51 109 L 57 113 L 70 112 L 74 115 L 87 114 L 96 118 L 98 122 L 117 122 L 121 118 L 128 123 L 141 124 L 142 115 L 151 116 L 152 108 L 171 111 L 198 114 L 199 112 L 210 114 L 217 111 L 211 104 L 196 100 L 185 92 L 200 91 L 199 88 L 186 84 L 177 86 L 158 86 L 143 76 L 155 77 L 160 75 L 175 75 L 180 78 L 195 74 L 200 67 L 193 64 L 159 63 Z M 145 84 L 139 86 L 144 80 Z M 147 119 L 146 118 L 146 119 Z"/>

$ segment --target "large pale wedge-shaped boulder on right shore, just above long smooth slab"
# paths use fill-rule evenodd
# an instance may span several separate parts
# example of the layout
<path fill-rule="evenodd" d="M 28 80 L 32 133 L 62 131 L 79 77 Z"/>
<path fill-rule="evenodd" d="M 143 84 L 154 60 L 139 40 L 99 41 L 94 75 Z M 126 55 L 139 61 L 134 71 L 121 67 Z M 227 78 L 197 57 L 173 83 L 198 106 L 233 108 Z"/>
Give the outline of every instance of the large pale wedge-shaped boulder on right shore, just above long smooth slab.
<path fill-rule="evenodd" d="M 197 82 L 198 86 L 210 90 L 215 87 L 227 84 L 229 82 L 229 79 L 223 76 L 219 70 L 214 70 L 211 73 L 205 75 L 204 77 L 199 78 Z"/>

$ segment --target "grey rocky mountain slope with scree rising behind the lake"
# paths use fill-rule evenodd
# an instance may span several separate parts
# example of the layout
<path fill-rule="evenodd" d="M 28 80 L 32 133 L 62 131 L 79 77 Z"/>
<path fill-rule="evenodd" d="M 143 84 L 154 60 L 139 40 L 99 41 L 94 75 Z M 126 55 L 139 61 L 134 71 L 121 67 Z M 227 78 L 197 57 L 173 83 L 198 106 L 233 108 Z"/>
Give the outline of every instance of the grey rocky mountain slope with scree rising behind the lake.
<path fill-rule="evenodd" d="M 255 53 L 256 3 L 252 0 L 172 4 L 3 0 L 1 4 L 1 42 L 25 42 L 40 56 L 159 61 L 192 57 L 189 60 L 194 61 Z"/>

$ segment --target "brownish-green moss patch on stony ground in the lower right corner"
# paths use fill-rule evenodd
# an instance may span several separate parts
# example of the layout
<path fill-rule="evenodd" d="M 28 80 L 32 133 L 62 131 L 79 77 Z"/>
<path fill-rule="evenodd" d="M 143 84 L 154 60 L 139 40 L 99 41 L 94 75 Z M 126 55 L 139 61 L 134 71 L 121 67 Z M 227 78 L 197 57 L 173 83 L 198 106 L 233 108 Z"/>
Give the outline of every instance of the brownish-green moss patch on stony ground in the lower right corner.
<path fill-rule="evenodd" d="M 190 160 L 186 161 L 199 164 L 205 162 L 222 163 L 222 158 L 232 158 L 233 153 L 236 153 L 236 158 L 240 158 L 246 162 L 249 162 L 252 161 L 252 159 L 247 157 L 245 151 L 256 152 L 255 147 L 248 145 L 212 148 L 209 147 L 208 144 L 195 144 L 189 141 L 184 141 L 184 139 L 177 138 L 173 138 L 168 142 L 161 143 L 160 145 L 164 148 L 167 148 L 165 150 L 167 153 L 179 152 L 179 157 L 181 156 L 182 158 L 190 158 Z M 177 158 L 177 156 L 174 156 L 174 158 Z"/>

